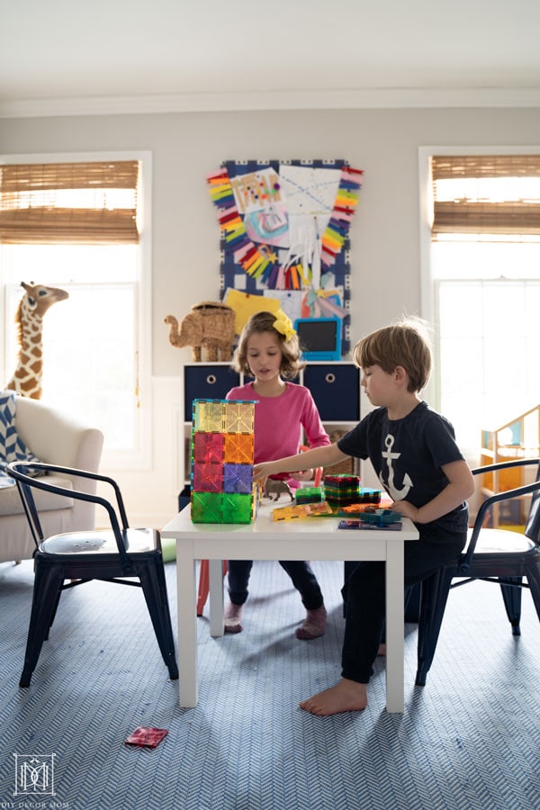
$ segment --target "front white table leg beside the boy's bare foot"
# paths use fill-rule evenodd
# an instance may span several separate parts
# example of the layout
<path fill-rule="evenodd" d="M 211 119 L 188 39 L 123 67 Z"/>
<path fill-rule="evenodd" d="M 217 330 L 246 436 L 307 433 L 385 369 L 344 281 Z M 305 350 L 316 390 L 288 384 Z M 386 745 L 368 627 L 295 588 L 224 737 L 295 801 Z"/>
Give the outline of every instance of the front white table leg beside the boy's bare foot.
<path fill-rule="evenodd" d="M 404 588 L 403 544 L 387 542 L 386 557 L 386 710 L 402 712 Z"/>

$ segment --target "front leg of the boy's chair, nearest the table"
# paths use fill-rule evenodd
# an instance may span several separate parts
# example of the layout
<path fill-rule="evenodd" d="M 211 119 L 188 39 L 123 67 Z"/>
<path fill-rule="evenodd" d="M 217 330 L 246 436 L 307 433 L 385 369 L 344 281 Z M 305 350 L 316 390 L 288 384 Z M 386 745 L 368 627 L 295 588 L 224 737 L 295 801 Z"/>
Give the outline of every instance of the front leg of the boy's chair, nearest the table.
<path fill-rule="evenodd" d="M 419 617 L 417 686 L 426 686 L 428 671 L 437 648 L 452 572 L 441 569 L 422 581 Z"/>

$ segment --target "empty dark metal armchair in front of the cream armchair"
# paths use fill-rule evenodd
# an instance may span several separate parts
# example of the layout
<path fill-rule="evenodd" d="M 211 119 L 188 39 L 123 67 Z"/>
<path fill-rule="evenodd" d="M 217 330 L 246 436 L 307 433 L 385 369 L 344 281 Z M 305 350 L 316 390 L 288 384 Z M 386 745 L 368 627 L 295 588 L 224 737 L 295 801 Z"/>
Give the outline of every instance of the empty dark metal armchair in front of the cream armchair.
<path fill-rule="evenodd" d="M 6 470 L 19 489 L 37 546 L 34 553 L 34 586 L 30 627 L 19 686 L 30 686 L 43 642 L 49 637 L 63 590 L 92 580 L 117 582 L 142 588 L 157 636 L 157 644 L 171 680 L 178 678 L 175 641 L 166 593 L 166 579 L 157 529 L 130 528 L 118 484 L 107 476 L 54 464 L 14 462 Z M 47 476 L 28 473 L 65 473 L 103 482 L 112 487 L 115 504 L 99 495 L 53 486 Z M 69 532 L 45 538 L 32 490 L 39 489 L 69 499 L 86 500 L 103 507 L 111 529 Z M 134 578 L 122 579 L 123 577 Z"/>

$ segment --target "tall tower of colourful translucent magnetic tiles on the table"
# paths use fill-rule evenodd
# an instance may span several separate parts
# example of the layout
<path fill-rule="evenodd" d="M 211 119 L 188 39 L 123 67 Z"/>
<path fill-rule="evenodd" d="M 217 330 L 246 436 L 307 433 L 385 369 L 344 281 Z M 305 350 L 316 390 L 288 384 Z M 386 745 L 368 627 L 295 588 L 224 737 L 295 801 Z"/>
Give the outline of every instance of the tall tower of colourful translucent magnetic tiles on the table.
<path fill-rule="evenodd" d="M 254 419 L 254 401 L 193 400 L 193 523 L 250 523 L 254 518 Z"/>

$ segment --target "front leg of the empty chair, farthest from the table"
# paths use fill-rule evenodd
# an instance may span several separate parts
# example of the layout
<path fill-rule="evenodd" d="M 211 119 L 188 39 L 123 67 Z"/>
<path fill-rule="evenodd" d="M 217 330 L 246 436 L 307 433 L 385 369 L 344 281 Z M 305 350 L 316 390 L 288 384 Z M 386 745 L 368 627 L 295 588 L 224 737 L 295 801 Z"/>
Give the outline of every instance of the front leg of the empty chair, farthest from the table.
<path fill-rule="evenodd" d="M 58 608 L 63 572 L 58 566 L 43 566 L 36 558 L 33 595 L 31 599 L 30 626 L 24 654 L 23 674 L 19 686 L 30 686 L 32 672 L 40 657 L 41 647 L 49 637 L 49 627 Z"/>

